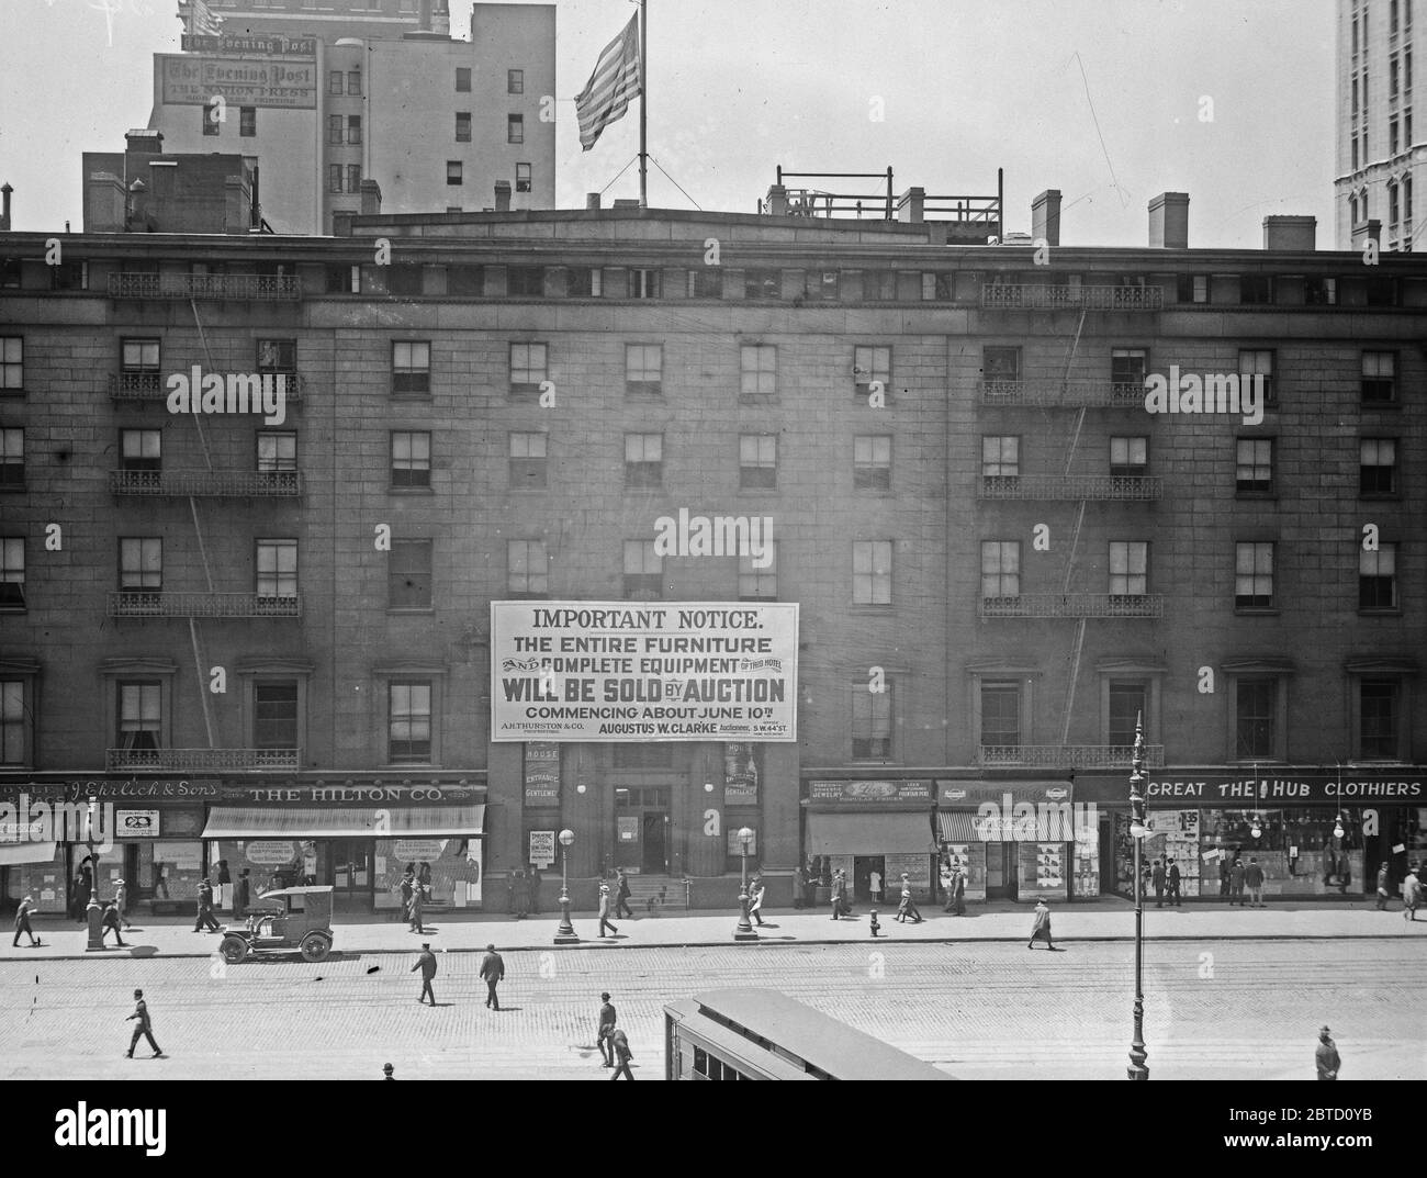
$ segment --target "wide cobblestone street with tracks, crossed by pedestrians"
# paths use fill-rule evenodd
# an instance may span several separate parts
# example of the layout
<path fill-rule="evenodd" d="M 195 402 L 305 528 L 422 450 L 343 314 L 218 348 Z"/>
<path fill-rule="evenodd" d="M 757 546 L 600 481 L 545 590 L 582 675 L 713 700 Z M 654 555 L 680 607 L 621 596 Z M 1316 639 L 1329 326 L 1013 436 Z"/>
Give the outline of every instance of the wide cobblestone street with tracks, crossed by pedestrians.
<path fill-rule="evenodd" d="M 664 1004 L 702 990 L 782 990 L 963 1078 L 1124 1075 L 1133 948 L 1025 944 L 635 948 L 505 954 L 499 1014 L 478 958 L 442 954 L 435 1010 L 415 955 L 301 961 L 108 958 L 0 962 L 0 1078 L 598 1079 L 601 990 L 641 1079 L 662 1078 Z M 1173 941 L 1147 947 L 1156 1078 L 1311 1078 L 1320 1024 L 1346 1079 L 1427 1077 L 1421 947 Z M 167 1059 L 124 1059 L 143 987 Z M 141 1052 L 143 1054 L 143 1052 Z"/>

